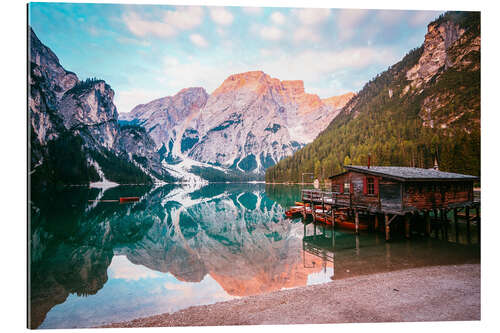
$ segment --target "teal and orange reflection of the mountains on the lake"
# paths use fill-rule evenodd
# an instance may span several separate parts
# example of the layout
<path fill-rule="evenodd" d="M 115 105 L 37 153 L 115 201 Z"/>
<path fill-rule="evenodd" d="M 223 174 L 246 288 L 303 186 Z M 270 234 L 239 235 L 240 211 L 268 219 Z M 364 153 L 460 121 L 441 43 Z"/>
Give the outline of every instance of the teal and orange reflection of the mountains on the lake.
<path fill-rule="evenodd" d="M 127 205 L 89 202 L 141 196 Z M 115 254 L 134 264 L 199 282 L 210 274 L 229 294 L 305 285 L 302 224 L 283 221 L 264 185 L 200 189 L 72 188 L 33 198 L 31 325 L 70 293 L 97 293 Z"/>

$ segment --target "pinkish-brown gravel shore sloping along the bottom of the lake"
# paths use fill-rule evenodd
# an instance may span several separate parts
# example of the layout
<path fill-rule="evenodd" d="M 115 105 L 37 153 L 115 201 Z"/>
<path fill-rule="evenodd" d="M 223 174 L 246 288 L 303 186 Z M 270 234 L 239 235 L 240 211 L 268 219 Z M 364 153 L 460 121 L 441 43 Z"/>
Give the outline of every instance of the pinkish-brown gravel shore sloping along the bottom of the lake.
<path fill-rule="evenodd" d="M 480 320 L 480 265 L 357 276 L 105 327 Z"/>

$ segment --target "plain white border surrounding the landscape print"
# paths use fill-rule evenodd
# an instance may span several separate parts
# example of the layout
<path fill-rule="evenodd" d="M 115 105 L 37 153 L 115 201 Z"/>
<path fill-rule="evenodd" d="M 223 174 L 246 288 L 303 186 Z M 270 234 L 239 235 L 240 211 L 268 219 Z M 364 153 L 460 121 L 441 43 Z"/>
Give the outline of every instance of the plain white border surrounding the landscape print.
<path fill-rule="evenodd" d="M 60 2 L 60 1 L 47 1 Z M 90 1 L 72 1 L 90 2 Z M 232 5 L 232 6 L 278 6 L 278 7 L 334 7 L 334 8 L 370 8 L 370 9 L 419 9 L 419 10 L 481 10 L 482 31 L 482 320 L 480 322 L 447 322 L 447 323 L 399 323 L 399 324 L 335 324 L 335 325 L 287 325 L 287 326 L 240 326 L 209 327 L 203 332 L 253 332 L 265 331 L 308 331 L 331 332 L 349 331 L 364 332 L 383 330 L 384 332 L 421 332 L 448 330 L 490 331 L 498 326 L 499 315 L 499 280 L 498 280 L 498 224 L 495 215 L 498 200 L 498 166 L 500 158 L 497 143 L 500 142 L 498 121 L 500 109 L 498 104 L 498 84 L 500 78 L 498 59 L 498 5 L 493 1 L 462 0 L 420 0 L 402 2 L 395 0 L 361 1 L 361 0 L 172 0 L 172 1 L 92 1 L 105 3 L 137 3 L 137 4 L 192 4 L 192 5 Z M 1 80 L 1 118 L 0 142 L 2 149 L 3 188 L 0 203 L 2 204 L 1 261 L 2 264 L 2 321 L 0 325 L 6 332 L 24 331 L 26 327 L 26 5 L 23 1 L 2 2 L 0 24 L 2 48 Z M 422 36 L 423 39 L 423 36 Z M 132 329 L 130 332 L 160 332 L 165 328 Z M 200 328 L 168 328 L 169 332 L 198 332 Z M 498 330 L 498 328 L 497 328 Z M 58 330 L 65 332 L 66 330 Z M 71 330 L 75 332 L 83 330 Z M 107 329 L 102 332 L 123 332 L 123 330 Z M 87 331 L 85 331 L 87 332 Z"/>

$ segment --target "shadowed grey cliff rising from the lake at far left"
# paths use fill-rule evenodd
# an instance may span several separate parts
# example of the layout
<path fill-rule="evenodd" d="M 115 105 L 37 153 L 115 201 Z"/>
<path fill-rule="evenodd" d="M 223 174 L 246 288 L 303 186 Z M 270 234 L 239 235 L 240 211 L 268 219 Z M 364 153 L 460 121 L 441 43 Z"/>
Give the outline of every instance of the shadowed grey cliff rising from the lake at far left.
<path fill-rule="evenodd" d="M 153 171 L 160 179 L 171 178 L 155 162 L 155 147 L 148 145 L 151 138 L 145 131 L 133 138 L 143 149 L 123 151 L 129 132 L 120 130 L 111 87 L 103 80 L 79 81 L 31 28 L 28 61 L 30 176 L 35 187 L 104 179 L 151 182 Z M 117 138 L 120 144 L 115 144 Z M 138 165 L 141 158 L 151 162 Z"/>

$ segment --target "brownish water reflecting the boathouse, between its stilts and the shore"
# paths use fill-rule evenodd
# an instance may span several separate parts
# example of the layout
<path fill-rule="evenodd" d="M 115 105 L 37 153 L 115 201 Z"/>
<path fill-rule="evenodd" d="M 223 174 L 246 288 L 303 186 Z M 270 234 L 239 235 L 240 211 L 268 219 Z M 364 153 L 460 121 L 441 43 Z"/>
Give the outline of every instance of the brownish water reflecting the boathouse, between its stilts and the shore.
<path fill-rule="evenodd" d="M 475 234 L 475 232 L 474 232 Z M 480 246 L 469 230 L 450 225 L 450 237 L 413 237 L 386 242 L 377 233 L 346 232 L 331 225 L 304 221 L 304 268 L 331 267 L 330 279 L 390 272 L 423 266 L 460 265 L 475 262 Z"/>

